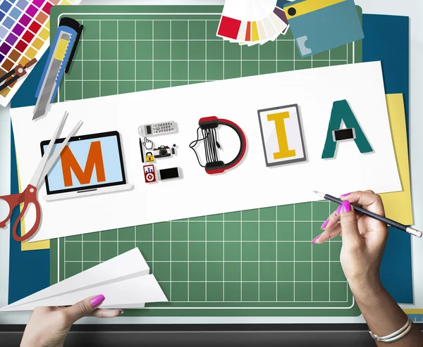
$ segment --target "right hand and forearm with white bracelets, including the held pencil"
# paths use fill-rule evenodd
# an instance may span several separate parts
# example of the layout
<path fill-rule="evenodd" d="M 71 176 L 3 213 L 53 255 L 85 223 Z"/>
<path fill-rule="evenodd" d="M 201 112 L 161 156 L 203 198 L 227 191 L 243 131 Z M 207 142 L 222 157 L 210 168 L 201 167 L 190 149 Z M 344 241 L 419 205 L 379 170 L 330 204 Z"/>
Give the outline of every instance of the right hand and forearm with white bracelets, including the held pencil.
<path fill-rule="evenodd" d="M 372 337 L 383 341 L 382 344 L 393 342 L 390 343 L 392 346 L 422 346 L 422 332 L 381 284 L 379 273 L 388 239 L 388 224 L 396 222 L 382 221 L 387 219 L 380 196 L 373 191 L 355 191 L 341 196 L 341 199 L 323 195 L 340 206 L 323 223 L 324 232 L 312 243 L 323 244 L 342 235 L 340 260 L 343 272 Z M 364 212 L 358 212 L 359 209 Z M 419 231 L 415 232 L 418 236 Z"/>

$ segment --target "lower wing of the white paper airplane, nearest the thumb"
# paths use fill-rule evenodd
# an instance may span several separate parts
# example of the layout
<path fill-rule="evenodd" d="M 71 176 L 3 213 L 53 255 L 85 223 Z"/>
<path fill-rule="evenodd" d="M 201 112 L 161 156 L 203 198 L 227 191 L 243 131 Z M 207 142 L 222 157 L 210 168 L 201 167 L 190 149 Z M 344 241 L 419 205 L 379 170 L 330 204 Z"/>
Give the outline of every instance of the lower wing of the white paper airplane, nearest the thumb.
<path fill-rule="evenodd" d="M 54 296 L 43 300 L 2 308 L 1 312 L 29 311 L 39 306 L 68 306 L 74 305 L 90 296 L 103 294 L 105 299 L 100 308 L 143 308 L 143 303 L 159 303 L 167 301 L 154 275 L 139 276 L 125 279 L 104 286 L 72 291 L 68 294 Z M 141 304 L 138 304 L 140 303 Z"/>

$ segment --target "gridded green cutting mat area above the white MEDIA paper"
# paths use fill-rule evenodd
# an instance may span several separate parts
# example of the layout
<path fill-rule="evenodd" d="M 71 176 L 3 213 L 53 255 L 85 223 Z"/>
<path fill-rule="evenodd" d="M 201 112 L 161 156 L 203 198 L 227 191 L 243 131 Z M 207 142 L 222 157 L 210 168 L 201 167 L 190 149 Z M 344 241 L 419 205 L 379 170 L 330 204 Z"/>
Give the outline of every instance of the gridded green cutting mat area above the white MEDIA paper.
<path fill-rule="evenodd" d="M 239 46 L 216 37 L 218 20 L 81 22 L 81 48 L 59 101 L 341 65 L 354 54 L 349 44 L 302 59 L 290 31 L 262 46 Z"/>

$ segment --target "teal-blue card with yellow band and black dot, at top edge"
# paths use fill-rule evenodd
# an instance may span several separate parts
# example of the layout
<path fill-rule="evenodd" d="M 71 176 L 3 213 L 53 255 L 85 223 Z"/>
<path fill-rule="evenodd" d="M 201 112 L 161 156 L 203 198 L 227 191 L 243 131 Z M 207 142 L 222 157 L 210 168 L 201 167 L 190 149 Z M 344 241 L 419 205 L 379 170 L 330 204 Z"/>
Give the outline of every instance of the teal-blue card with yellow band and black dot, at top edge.
<path fill-rule="evenodd" d="M 298 0 L 284 10 L 302 58 L 364 38 L 354 0 Z"/>

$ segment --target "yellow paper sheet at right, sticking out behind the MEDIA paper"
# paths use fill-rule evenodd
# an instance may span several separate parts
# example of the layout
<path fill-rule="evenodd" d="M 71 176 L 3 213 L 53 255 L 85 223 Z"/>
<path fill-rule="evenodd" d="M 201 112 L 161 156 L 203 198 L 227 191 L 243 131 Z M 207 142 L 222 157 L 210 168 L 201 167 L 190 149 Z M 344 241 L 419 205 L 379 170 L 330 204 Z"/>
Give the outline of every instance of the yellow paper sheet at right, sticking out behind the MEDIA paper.
<path fill-rule="evenodd" d="M 382 201 L 384 201 L 386 217 L 403 223 L 403 225 L 413 225 L 410 165 L 408 162 L 407 127 L 405 125 L 403 94 L 386 95 L 386 103 L 388 105 L 389 122 L 391 122 L 393 148 L 403 191 L 380 195 Z"/>

